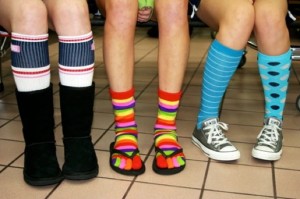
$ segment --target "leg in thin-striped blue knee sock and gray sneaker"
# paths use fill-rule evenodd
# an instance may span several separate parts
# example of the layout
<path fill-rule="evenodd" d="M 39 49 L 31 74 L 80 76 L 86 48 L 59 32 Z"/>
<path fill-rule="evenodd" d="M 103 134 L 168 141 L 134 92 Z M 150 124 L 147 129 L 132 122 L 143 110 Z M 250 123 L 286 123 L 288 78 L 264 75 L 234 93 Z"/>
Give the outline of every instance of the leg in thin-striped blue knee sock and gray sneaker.
<path fill-rule="evenodd" d="M 251 34 L 254 9 L 248 0 L 202 0 L 197 14 L 218 33 L 205 63 L 193 143 L 212 159 L 236 160 L 240 153 L 223 133 L 228 127 L 219 122 L 219 108 Z"/>

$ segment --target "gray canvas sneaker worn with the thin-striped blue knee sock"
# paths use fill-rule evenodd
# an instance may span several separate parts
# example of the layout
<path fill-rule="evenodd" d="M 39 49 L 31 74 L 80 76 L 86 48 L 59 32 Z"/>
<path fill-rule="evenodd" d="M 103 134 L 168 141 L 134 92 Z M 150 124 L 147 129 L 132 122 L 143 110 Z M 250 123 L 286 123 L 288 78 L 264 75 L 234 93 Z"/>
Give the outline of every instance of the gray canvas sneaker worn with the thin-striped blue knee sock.
<path fill-rule="evenodd" d="M 217 118 L 205 120 L 201 129 L 195 127 L 192 142 L 209 158 L 220 161 L 239 159 L 239 150 L 231 144 L 222 130 L 228 130 L 228 125 L 219 122 Z"/>

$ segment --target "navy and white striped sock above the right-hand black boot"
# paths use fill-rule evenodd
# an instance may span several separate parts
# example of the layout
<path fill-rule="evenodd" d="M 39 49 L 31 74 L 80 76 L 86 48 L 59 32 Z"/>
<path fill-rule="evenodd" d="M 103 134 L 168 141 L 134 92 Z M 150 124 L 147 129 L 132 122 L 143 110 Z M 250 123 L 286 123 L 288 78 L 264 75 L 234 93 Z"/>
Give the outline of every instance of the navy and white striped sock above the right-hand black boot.
<path fill-rule="evenodd" d="M 80 36 L 59 36 L 60 83 L 88 87 L 94 75 L 95 45 L 92 32 Z"/>

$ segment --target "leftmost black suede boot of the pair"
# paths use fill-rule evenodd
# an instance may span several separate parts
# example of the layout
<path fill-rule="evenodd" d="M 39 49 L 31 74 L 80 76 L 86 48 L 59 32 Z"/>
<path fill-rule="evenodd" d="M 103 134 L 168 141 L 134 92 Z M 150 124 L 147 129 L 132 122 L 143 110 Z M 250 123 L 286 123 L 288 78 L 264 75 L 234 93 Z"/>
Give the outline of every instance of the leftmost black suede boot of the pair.
<path fill-rule="evenodd" d="M 63 175 L 56 157 L 52 86 L 16 91 L 16 97 L 25 139 L 24 180 L 34 186 L 56 184 Z"/>

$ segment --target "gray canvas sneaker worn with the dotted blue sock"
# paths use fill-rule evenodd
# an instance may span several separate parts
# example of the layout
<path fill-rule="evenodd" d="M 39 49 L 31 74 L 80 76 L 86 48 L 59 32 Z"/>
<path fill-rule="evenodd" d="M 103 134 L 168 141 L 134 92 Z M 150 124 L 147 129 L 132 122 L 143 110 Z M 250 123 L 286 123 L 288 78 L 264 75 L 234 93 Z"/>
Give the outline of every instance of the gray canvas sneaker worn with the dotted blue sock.
<path fill-rule="evenodd" d="M 276 118 L 267 118 L 257 136 L 252 156 L 262 160 L 279 160 L 282 154 L 282 122 Z"/>

